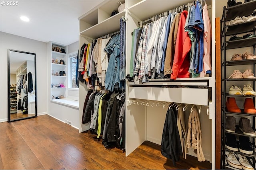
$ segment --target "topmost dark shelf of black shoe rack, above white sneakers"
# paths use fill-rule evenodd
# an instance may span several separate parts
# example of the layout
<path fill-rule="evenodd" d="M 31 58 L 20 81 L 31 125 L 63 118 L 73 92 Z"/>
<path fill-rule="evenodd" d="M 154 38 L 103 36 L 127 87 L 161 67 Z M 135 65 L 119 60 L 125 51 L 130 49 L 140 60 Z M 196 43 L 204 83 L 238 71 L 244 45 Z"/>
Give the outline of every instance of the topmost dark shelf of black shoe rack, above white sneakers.
<path fill-rule="evenodd" d="M 226 10 L 226 21 L 233 20 L 237 16 L 249 16 L 256 8 L 256 1 L 246 2 L 240 5 L 232 6 Z"/>

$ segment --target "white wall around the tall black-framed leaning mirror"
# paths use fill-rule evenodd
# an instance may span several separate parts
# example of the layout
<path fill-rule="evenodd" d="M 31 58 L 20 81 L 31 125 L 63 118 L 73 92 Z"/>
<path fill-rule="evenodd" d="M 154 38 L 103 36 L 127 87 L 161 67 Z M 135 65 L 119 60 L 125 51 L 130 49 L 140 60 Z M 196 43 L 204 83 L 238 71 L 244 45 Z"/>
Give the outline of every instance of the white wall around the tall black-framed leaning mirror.
<path fill-rule="evenodd" d="M 0 32 L 0 122 L 8 121 L 7 49 L 36 53 L 37 114 L 47 113 L 47 44 Z"/>

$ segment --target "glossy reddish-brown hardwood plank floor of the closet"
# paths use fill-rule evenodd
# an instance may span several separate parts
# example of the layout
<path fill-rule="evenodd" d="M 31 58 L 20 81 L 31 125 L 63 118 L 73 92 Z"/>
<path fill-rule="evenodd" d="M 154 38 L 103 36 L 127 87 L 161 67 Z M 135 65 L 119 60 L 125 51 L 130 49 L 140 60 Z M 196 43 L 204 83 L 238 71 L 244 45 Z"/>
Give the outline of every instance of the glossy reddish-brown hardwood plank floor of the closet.
<path fill-rule="evenodd" d="M 125 156 L 119 149 L 106 149 L 89 131 L 78 133 L 49 115 L 12 123 L 0 123 L 0 169 L 210 169 L 187 155 L 167 160 L 160 145 L 144 142 Z"/>

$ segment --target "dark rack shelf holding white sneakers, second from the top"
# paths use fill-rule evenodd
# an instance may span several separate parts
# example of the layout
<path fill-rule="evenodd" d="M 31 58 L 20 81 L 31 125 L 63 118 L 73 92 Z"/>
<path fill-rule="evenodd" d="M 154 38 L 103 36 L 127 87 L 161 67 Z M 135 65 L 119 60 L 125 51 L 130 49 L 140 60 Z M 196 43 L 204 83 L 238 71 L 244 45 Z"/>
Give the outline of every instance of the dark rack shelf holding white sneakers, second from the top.
<path fill-rule="evenodd" d="M 254 21 L 247 21 L 242 23 L 237 23 L 233 25 L 228 25 L 226 36 L 240 34 L 240 33 L 247 33 L 253 31 L 256 26 L 256 20 Z"/>

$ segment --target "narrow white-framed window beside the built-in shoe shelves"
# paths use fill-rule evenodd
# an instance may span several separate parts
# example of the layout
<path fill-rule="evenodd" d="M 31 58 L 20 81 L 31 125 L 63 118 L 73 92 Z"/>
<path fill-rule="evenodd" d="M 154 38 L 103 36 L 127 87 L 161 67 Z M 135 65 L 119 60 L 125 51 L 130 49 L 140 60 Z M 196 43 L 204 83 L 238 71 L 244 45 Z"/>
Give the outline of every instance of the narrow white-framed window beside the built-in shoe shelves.
<path fill-rule="evenodd" d="M 76 61 L 77 61 L 77 53 L 69 56 L 69 88 L 78 88 L 76 85 Z"/>

